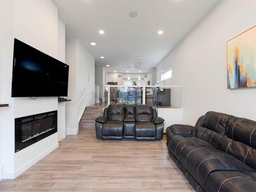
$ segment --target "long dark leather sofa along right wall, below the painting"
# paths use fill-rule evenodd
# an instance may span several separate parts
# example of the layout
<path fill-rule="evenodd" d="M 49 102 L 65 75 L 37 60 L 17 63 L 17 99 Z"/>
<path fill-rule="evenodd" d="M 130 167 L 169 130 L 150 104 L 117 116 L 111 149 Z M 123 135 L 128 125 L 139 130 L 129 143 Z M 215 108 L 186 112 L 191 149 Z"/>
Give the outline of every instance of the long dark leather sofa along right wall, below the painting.
<path fill-rule="evenodd" d="M 170 157 L 196 191 L 256 191 L 256 121 L 207 112 L 166 135 Z"/>

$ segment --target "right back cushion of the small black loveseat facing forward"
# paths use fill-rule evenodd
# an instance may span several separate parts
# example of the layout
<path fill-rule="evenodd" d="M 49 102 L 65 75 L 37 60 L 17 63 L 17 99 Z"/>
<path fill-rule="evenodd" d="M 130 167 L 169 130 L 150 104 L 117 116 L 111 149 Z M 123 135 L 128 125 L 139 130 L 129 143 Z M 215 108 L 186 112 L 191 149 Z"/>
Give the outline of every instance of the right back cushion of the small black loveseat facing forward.
<path fill-rule="evenodd" d="M 135 119 L 136 121 L 151 121 L 153 118 L 153 108 L 150 105 L 136 105 Z"/>

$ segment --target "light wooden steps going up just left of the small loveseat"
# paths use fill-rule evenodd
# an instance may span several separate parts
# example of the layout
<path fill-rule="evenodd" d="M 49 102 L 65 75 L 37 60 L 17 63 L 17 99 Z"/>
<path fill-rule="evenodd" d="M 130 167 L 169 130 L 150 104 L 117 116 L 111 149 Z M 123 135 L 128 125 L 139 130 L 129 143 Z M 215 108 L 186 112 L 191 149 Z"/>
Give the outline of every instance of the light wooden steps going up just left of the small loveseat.
<path fill-rule="evenodd" d="M 87 106 L 79 121 L 79 129 L 94 128 L 95 119 L 103 116 L 104 106 Z"/>

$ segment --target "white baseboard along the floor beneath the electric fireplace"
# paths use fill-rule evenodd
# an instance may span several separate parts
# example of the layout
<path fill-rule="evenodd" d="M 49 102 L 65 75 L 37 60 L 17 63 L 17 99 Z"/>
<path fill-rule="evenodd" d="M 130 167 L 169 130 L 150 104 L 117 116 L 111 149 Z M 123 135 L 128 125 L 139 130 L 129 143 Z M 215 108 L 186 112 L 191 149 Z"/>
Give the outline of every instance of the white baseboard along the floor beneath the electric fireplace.
<path fill-rule="evenodd" d="M 52 151 L 54 151 L 56 148 L 58 148 L 59 143 L 54 144 L 53 146 L 51 146 L 50 148 L 48 148 L 45 152 L 42 152 L 40 155 L 36 156 L 34 159 L 32 159 L 31 161 L 29 161 L 28 163 L 26 163 L 25 165 L 23 165 L 22 167 L 18 168 L 17 170 L 15 170 L 14 172 L 4 172 L 3 173 L 3 179 L 15 179 L 16 177 L 18 177 L 20 174 L 22 174 L 23 172 L 25 172 L 25 170 L 27 170 L 29 167 L 31 167 L 32 165 L 34 165 L 35 163 L 37 163 L 38 161 L 40 161 L 42 158 L 44 158 L 45 156 L 47 156 L 49 153 L 51 153 Z"/>

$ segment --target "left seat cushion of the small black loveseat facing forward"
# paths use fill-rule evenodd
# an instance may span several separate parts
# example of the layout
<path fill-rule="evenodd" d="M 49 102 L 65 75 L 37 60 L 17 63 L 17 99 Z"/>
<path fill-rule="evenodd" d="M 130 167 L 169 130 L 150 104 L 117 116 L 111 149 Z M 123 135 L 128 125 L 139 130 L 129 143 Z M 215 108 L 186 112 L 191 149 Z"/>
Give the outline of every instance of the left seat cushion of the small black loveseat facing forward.
<path fill-rule="evenodd" d="M 107 121 L 102 126 L 102 139 L 122 138 L 123 122 Z"/>

